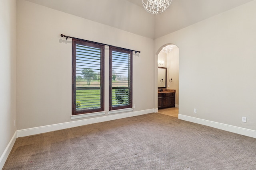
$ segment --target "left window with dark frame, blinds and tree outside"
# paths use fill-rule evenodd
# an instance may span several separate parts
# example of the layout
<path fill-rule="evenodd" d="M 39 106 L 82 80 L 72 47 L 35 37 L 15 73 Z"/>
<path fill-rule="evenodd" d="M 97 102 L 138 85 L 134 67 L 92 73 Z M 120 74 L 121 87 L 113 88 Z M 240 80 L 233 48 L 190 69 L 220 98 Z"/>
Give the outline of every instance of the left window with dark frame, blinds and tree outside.
<path fill-rule="evenodd" d="M 72 115 L 104 111 L 104 45 L 72 40 Z"/>

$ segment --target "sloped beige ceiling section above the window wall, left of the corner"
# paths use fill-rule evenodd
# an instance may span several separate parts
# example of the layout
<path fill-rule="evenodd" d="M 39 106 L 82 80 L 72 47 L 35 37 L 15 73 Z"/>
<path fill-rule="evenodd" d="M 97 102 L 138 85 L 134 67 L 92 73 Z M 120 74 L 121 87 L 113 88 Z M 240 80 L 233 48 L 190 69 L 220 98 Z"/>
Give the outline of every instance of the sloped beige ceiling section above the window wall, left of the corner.
<path fill-rule="evenodd" d="M 128 0 L 27 1 L 142 35 L 143 37 L 154 38 L 155 15 L 150 15 L 142 6 L 131 3 Z M 142 3 L 141 1 L 138 2 Z"/>

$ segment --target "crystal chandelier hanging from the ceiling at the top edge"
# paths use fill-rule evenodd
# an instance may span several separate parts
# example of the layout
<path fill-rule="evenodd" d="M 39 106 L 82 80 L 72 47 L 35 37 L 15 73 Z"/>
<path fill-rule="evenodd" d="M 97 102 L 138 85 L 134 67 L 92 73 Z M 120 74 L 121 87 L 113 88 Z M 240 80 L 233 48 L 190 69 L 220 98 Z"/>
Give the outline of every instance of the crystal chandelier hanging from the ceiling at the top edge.
<path fill-rule="evenodd" d="M 145 2 L 147 1 L 147 3 Z M 142 0 L 145 10 L 151 14 L 164 12 L 171 4 L 172 0 Z"/>

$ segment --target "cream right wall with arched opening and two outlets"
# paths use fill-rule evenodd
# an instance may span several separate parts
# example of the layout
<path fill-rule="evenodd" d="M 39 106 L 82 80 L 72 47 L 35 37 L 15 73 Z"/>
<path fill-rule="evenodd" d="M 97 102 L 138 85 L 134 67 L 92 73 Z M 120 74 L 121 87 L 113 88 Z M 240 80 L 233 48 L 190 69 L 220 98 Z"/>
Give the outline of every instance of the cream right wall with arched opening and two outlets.
<path fill-rule="evenodd" d="M 179 114 L 256 130 L 255 9 L 256 0 L 155 39 L 155 51 L 180 49 Z"/>

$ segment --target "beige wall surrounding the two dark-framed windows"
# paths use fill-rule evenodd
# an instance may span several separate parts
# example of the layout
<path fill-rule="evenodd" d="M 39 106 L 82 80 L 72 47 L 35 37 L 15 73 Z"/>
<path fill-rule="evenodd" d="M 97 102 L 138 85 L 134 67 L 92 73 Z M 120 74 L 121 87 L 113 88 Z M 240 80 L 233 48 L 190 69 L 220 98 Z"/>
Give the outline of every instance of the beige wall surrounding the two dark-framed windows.
<path fill-rule="evenodd" d="M 153 39 L 24 0 L 17 30 L 18 129 L 71 121 L 72 39 L 61 33 L 141 51 L 133 57 L 134 111 L 154 108 Z"/>

